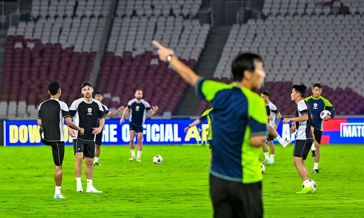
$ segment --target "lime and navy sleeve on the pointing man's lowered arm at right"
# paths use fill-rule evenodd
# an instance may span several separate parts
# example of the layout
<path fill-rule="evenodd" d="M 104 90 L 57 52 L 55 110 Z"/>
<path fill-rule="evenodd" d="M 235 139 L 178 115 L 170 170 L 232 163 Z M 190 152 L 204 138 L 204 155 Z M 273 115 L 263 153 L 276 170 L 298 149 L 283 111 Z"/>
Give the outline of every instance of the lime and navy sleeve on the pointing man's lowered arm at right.
<path fill-rule="evenodd" d="M 247 94 L 247 92 L 244 92 Z M 267 135 L 267 113 L 263 99 L 256 93 L 248 96 L 248 115 L 251 136 Z"/>

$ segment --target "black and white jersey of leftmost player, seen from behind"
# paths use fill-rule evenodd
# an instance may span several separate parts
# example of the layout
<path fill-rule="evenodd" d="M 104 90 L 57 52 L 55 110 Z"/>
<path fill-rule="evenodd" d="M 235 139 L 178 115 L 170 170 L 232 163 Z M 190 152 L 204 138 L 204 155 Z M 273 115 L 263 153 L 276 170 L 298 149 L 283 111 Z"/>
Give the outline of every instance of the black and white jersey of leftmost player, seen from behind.
<path fill-rule="evenodd" d="M 65 141 L 63 124 L 65 118 L 70 117 L 65 102 L 50 98 L 39 105 L 38 119 L 42 120 L 41 137 L 51 142 Z"/>

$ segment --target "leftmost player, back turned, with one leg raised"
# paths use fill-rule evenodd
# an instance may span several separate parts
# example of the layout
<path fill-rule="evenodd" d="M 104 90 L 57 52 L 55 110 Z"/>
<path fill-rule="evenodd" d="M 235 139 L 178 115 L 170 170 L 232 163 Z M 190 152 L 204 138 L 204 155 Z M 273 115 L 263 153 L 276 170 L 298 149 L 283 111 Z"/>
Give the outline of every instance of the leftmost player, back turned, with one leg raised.
<path fill-rule="evenodd" d="M 60 101 L 61 84 L 58 81 L 50 82 L 48 85 L 50 99 L 42 102 L 38 109 L 38 125 L 40 125 L 40 135 L 42 143 L 52 147 L 52 156 L 54 162 L 54 181 L 56 189 L 53 198 L 68 198 L 61 193 L 62 185 L 62 163 L 65 156 L 65 131 L 63 124 L 80 131 L 83 134 L 84 129 L 78 127 L 71 121 L 68 107 L 65 102 Z"/>

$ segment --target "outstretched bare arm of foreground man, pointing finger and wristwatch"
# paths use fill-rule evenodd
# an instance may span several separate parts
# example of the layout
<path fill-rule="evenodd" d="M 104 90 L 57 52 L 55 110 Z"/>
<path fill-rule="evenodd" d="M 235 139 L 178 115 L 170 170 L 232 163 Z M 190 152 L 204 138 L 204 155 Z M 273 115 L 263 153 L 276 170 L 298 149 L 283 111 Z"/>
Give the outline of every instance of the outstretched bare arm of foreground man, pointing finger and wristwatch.
<path fill-rule="evenodd" d="M 174 51 L 170 48 L 162 46 L 159 42 L 153 40 L 152 44 L 158 48 L 159 59 L 163 62 L 167 62 L 167 56 L 171 55 L 172 58 L 168 63 L 174 68 L 174 70 L 191 86 L 195 86 L 199 76 L 186 64 L 181 62 L 175 55 Z"/>

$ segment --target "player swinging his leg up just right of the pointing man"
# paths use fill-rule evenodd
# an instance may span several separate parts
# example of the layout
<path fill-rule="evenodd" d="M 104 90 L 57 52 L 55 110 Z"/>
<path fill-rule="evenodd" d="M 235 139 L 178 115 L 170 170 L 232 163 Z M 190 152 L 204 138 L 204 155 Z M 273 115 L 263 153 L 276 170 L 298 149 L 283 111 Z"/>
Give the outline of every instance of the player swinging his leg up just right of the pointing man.
<path fill-rule="evenodd" d="M 265 108 L 266 108 L 266 113 L 268 115 L 268 125 L 272 128 L 270 128 L 268 126 L 268 132 L 269 135 L 267 137 L 267 141 L 268 141 L 268 145 L 270 148 L 270 157 L 269 157 L 269 153 L 268 153 L 268 148 L 267 146 L 264 144 L 262 144 L 262 148 L 263 148 L 263 152 L 264 152 L 264 156 L 265 156 L 265 161 L 263 163 L 266 164 L 274 164 L 274 154 L 275 154 L 275 147 L 274 147 L 274 143 L 273 140 L 274 138 L 277 139 L 277 141 L 282 145 L 283 148 L 287 147 L 287 145 L 289 145 L 291 143 L 292 140 L 285 140 L 283 141 L 281 136 L 278 133 L 274 133 L 277 132 L 277 127 L 281 121 L 281 113 L 278 111 L 277 107 L 269 100 L 270 97 L 270 93 L 268 91 L 264 91 L 261 94 L 264 102 L 265 102 Z M 277 118 L 277 121 L 276 121 Z M 274 128 L 274 130 L 273 130 Z"/>

